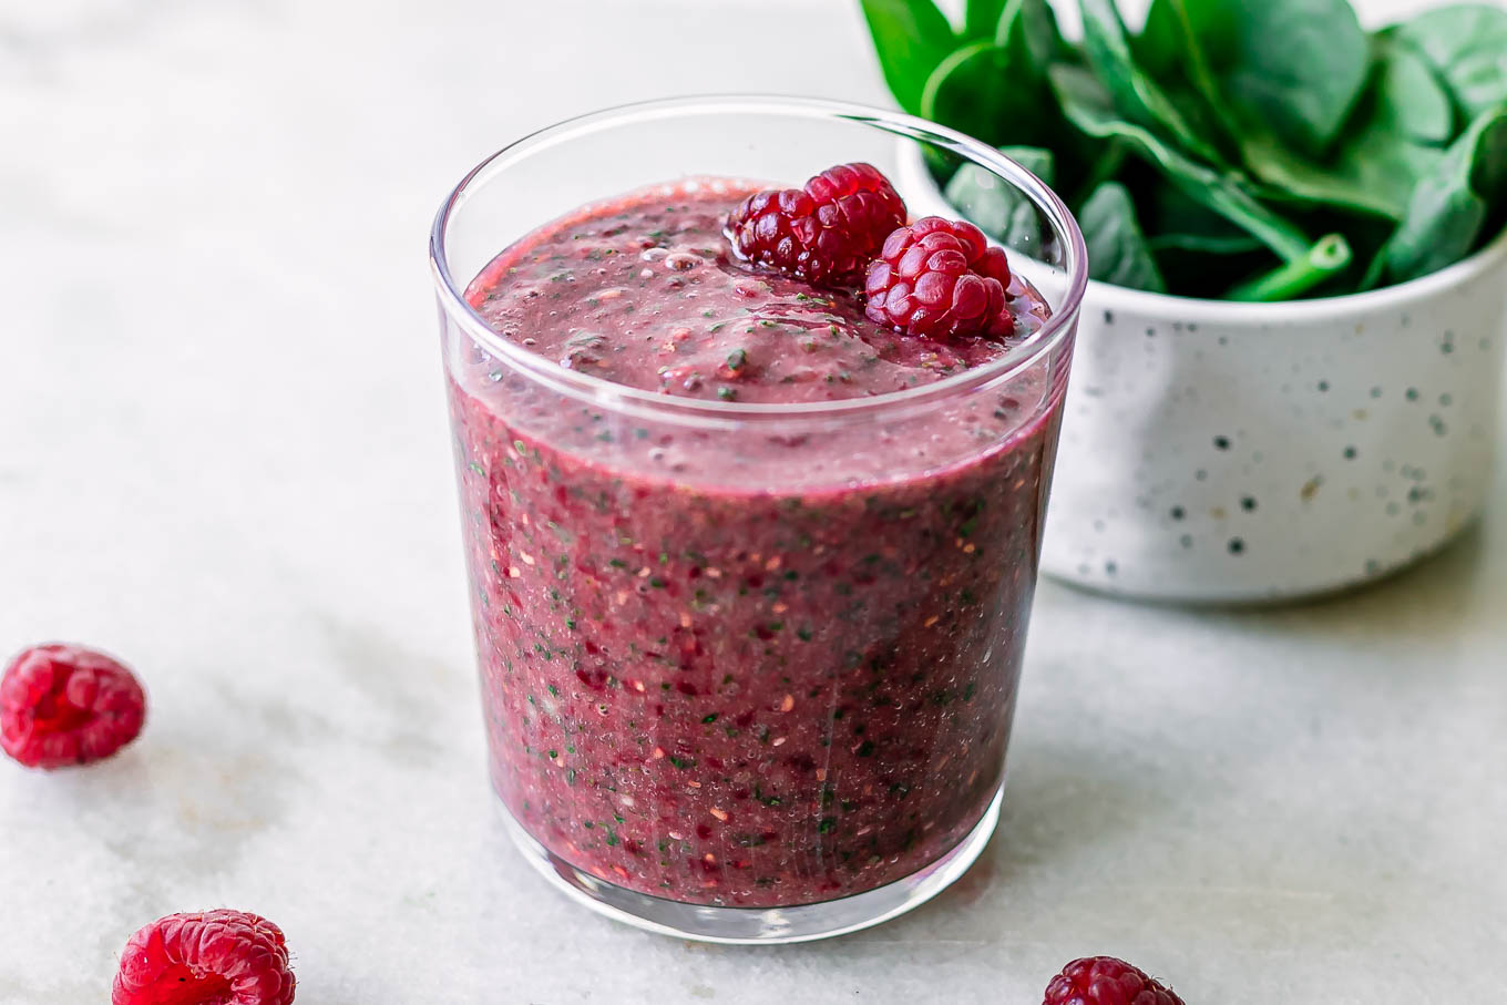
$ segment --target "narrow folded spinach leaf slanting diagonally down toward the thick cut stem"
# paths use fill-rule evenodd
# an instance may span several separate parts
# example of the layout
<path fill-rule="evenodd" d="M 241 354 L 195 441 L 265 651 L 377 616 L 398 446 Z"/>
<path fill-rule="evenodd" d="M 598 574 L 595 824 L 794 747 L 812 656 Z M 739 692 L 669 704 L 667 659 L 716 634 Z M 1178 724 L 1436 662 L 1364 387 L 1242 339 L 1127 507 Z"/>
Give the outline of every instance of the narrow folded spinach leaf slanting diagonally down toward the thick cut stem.
<path fill-rule="evenodd" d="M 1084 133 L 1105 140 L 1124 140 L 1189 199 L 1258 237 L 1279 258 L 1291 261 L 1308 253 L 1310 241 L 1302 229 L 1257 202 L 1239 181 L 1197 163 L 1147 128 L 1120 119 L 1109 95 L 1087 71 L 1053 66 L 1052 86 L 1067 119 Z"/>

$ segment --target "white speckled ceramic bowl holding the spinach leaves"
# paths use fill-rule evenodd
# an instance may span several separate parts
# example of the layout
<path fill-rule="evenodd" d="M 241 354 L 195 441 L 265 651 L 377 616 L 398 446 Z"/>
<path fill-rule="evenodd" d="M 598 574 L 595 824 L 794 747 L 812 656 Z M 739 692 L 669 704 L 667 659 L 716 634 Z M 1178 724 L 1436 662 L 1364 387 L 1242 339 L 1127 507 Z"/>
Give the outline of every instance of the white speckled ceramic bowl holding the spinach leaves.
<path fill-rule="evenodd" d="M 915 215 L 957 215 L 919 158 Z M 1091 282 L 1047 514 L 1046 573 L 1127 597 L 1243 603 L 1424 556 L 1492 484 L 1507 234 L 1350 297 L 1189 300 Z"/>

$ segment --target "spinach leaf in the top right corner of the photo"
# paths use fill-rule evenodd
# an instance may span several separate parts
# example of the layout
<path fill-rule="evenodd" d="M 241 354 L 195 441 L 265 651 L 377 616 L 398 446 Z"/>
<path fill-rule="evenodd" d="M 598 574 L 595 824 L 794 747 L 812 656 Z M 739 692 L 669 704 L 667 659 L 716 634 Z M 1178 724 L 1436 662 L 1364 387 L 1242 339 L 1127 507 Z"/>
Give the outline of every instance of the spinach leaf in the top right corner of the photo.
<path fill-rule="evenodd" d="M 1475 3 L 1438 8 L 1386 35 L 1429 60 L 1466 119 L 1507 101 L 1507 11 Z"/>

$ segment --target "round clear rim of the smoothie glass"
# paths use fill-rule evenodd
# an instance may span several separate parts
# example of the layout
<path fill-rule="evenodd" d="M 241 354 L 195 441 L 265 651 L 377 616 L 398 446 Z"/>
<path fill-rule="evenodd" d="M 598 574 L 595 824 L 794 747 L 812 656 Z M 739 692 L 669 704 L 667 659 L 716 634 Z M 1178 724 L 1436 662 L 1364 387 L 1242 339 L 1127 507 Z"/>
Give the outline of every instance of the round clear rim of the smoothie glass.
<path fill-rule="evenodd" d="M 467 303 L 464 285 L 457 285 L 451 273 L 446 237 L 452 217 L 476 187 L 490 181 L 494 175 L 520 163 L 532 154 L 567 143 L 573 139 L 591 136 L 607 128 L 631 125 L 634 122 L 660 122 L 668 119 L 686 119 L 705 115 L 732 113 L 763 113 L 782 115 L 793 119 L 841 119 L 859 125 L 868 125 L 900 139 L 931 143 L 936 148 L 957 154 L 964 160 L 984 167 L 996 176 L 1005 179 L 1041 211 L 1052 226 L 1052 232 L 1062 249 L 1065 259 L 1064 271 L 1067 285 L 1059 309 L 1053 309 L 1037 331 L 1020 345 L 1014 345 L 1002 356 L 983 366 L 966 369 L 943 380 L 886 392 L 883 395 L 839 398 L 835 401 L 814 402 L 738 402 L 738 401 L 702 401 L 699 398 L 680 398 L 659 390 L 630 387 L 618 384 L 603 377 L 565 369 L 553 360 L 533 353 L 523 345 L 511 342 L 499 334 L 485 319 Z M 674 179 L 665 179 L 666 182 Z M 618 193 L 607 193 L 618 194 Z M 512 240 L 521 238 L 515 235 Z M 511 243 L 511 241 L 509 241 Z M 508 244 L 499 246 L 502 252 Z M 823 98 L 791 98 L 782 95 L 692 95 L 683 98 L 659 98 L 653 101 L 636 101 L 621 104 L 598 111 L 562 119 L 553 125 L 535 130 L 512 143 L 488 155 L 472 167 L 464 178 L 451 190 L 434 217 L 429 231 L 429 271 L 434 277 L 436 292 L 446 316 L 458 322 L 467 336 L 482 345 L 494 357 L 500 357 L 509 366 L 527 375 L 552 390 L 589 404 L 615 411 L 634 411 L 651 414 L 659 419 L 681 422 L 711 422 L 716 425 L 738 425 L 747 420 L 790 420 L 790 419 L 850 419 L 871 417 L 874 414 L 892 416 L 910 413 L 915 407 L 928 407 L 952 395 L 972 392 L 995 383 L 1008 381 L 1017 374 L 1034 366 L 1041 357 L 1052 353 L 1073 331 L 1078 313 L 1088 289 L 1088 250 L 1078 221 L 1067 209 L 1067 205 L 1040 178 L 1005 157 L 998 149 L 981 143 L 957 130 L 919 119 L 901 111 L 889 111 L 871 105 L 827 101 Z"/>

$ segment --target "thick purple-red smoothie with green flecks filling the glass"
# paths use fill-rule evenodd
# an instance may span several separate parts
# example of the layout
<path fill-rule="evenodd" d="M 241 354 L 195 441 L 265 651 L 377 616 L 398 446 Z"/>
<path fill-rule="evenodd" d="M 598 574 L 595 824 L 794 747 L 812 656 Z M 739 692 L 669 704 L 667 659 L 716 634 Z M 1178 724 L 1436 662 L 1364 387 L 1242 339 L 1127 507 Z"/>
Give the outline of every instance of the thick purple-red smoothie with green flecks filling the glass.
<path fill-rule="evenodd" d="M 561 368 L 707 401 L 882 395 L 1007 351 L 901 336 L 853 294 L 732 261 L 744 194 L 588 206 L 467 300 Z M 1046 306 L 1010 292 L 1026 338 Z M 479 350 L 449 390 L 491 777 L 550 851 L 642 894 L 794 906 L 900 880 L 980 821 L 1059 380 L 735 428 L 589 404 Z"/>

